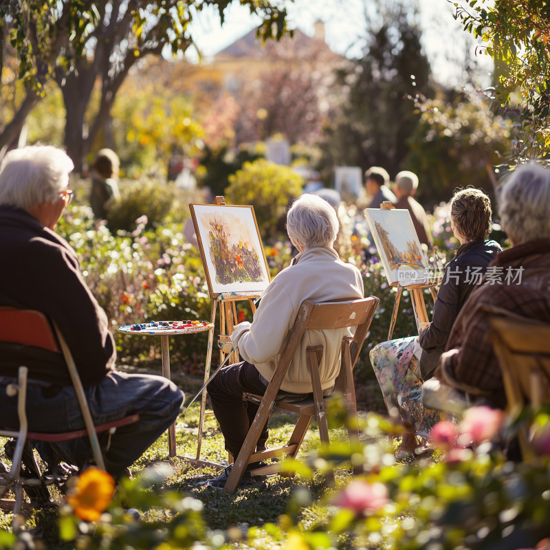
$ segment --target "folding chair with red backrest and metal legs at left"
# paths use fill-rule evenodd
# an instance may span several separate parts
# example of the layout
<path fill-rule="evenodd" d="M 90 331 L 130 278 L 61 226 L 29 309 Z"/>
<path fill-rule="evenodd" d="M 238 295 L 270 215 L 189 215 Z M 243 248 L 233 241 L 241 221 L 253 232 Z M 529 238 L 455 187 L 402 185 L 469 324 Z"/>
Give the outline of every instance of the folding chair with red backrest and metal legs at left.
<path fill-rule="evenodd" d="M 72 430 L 71 432 L 30 432 L 28 430 L 28 421 L 26 415 L 26 389 L 28 368 L 19 367 L 18 383 L 10 384 L 7 387 L 8 395 L 15 397 L 17 395 L 17 412 L 19 417 L 19 429 L 15 426 L 9 428 L 0 428 L 1 437 L 10 437 L 17 440 L 15 445 L 12 465 L 9 475 L 0 477 L 0 496 L 3 496 L 8 490 L 12 489 L 15 493 L 14 517 L 21 509 L 23 503 L 23 487 L 46 487 L 47 485 L 59 484 L 66 481 L 64 476 L 42 476 L 41 470 L 34 460 L 33 470 L 36 472 L 36 478 L 21 476 L 21 461 L 23 451 L 28 439 L 35 441 L 67 441 L 77 437 L 89 437 L 91 452 L 96 466 L 105 469 L 102 450 L 98 441 L 98 432 L 111 431 L 111 434 L 120 426 L 136 422 L 139 415 L 130 415 L 117 421 L 104 423 L 101 426 L 94 426 L 91 418 L 85 391 L 80 381 L 72 353 L 63 338 L 55 322 L 47 320 L 46 316 L 40 311 L 32 309 L 16 309 L 11 307 L 0 307 L 0 342 L 15 344 L 19 347 L 34 347 L 42 350 L 59 353 L 63 355 L 65 364 L 74 386 L 78 404 L 83 415 L 85 428 L 82 430 Z M 1 419 L 0 419 L 1 421 Z M 12 429 L 10 429 L 12 428 Z M 32 452 L 31 452 L 32 454 Z M 32 455 L 34 459 L 34 455 Z M 46 489 L 47 490 L 47 489 Z M 3 503 L 5 505 L 6 503 Z M 16 528 L 17 526 L 14 526 Z"/>

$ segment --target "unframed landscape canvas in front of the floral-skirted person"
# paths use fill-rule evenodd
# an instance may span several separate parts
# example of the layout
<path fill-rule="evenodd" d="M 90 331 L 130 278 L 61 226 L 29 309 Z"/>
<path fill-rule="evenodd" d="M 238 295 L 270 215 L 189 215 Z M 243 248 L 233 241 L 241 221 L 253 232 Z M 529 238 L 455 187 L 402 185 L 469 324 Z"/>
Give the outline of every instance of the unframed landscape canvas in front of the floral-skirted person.
<path fill-rule="evenodd" d="M 407 286 L 426 282 L 428 263 L 410 212 L 395 208 L 366 208 L 364 212 L 388 283 Z"/>

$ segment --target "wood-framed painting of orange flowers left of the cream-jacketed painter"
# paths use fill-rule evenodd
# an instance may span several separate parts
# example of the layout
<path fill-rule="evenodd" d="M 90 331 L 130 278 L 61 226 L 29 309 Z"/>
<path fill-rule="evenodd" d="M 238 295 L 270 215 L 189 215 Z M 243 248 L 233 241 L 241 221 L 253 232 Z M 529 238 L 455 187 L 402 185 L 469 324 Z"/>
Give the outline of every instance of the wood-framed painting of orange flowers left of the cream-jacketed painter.
<path fill-rule="evenodd" d="M 263 292 L 270 284 L 252 206 L 190 204 L 210 297 Z"/>

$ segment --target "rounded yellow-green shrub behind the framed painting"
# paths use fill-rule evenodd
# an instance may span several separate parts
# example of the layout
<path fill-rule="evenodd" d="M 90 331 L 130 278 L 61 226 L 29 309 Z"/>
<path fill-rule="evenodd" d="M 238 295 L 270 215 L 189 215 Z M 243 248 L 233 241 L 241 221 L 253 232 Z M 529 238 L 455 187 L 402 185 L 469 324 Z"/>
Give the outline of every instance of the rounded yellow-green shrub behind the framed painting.
<path fill-rule="evenodd" d="M 225 200 L 232 204 L 252 204 L 264 240 L 284 232 L 281 219 L 293 199 L 302 193 L 303 178 L 287 166 L 265 159 L 245 162 L 242 170 L 229 177 Z"/>

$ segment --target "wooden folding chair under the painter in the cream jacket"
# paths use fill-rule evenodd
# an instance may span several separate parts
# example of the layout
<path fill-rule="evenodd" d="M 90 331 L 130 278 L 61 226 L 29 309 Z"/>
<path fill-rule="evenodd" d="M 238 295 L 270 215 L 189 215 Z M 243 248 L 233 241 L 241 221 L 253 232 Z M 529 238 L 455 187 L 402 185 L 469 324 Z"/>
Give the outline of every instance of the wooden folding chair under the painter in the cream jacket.
<path fill-rule="evenodd" d="M 289 333 L 283 353 L 278 361 L 276 370 L 270 384 L 265 390 L 265 395 L 245 393 L 243 399 L 259 404 L 258 412 L 248 435 L 243 443 L 239 456 L 236 457 L 228 481 L 223 487 L 224 492 L 232 492 L 239 486 L 245 468 L 248 464 L 259 462 L 263 459 L 272 459 L 276 456 L 291 456 L 298 454 L 300 445 L 305 437 L 311 419 L 315 416 L 319 426 L 319 434 L 322 443 L 329 443 L 329 428 L 327 424 L 327 399 L 322 395 L 319 376 L 319 364 L 322 358 L 322 346 L 310 346 L 307 348 L 307 366 L 311 375 L 311 387 L 313 398 L 305 399 L 298 403 L 287 403 L 276 398 L 281 388 L 283 379 L 289 369 L 294 353 L 307 329 L 343 329 L 344 327 L 356 327 L 355 336 L 344 336 L 341 347 L 340 374 L 336 379 L 336 391 L 342 391 L 347 398 L 349 413 L 348 432 L 350 439 L 359 438 L 359 426 L 357 420 L 357 405 L 355 404 L 355 388 L 353 386 L 353 366 L 359 357 L 361 347 L 366 338 L 366 333 L 373 320 L 378 298 L 370 296 L 361 300 L 345 302 L 314 303 L 305 301 L 300 305 L 294 327 Z M 292 432 L 289 442 L 276 448 L 254 452 L 256 443 L 263 430 L 263 426 L 270 416 L 272 408 L 280 408 L 296 412 L 299 416 L 296 427 Z M 353 423 L 353 426 L 351 425 Z M 271 474 L 281 470 L 279 463 L 257 468 L 250 472 L 252 475 Z"/>

